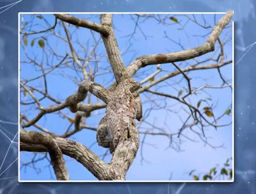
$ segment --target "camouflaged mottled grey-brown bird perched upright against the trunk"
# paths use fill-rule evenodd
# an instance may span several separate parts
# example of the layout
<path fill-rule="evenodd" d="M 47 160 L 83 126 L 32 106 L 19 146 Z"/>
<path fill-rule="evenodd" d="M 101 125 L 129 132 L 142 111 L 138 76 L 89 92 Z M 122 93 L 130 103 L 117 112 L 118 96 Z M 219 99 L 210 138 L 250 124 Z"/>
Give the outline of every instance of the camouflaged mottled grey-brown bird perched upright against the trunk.
<path fill-rule="evenodd" d="M 106 126 L 110 137 L 110 153 L 113 153 L 119 141 L 130 138 L 130 128 L 135 127 L 137 103 L 133 87 L 140 87 L 133 79 L 125 79 L 115 89 L 113 99 L 106 107 Z M 136 91 L 134 91 L 136 92 Z"/>

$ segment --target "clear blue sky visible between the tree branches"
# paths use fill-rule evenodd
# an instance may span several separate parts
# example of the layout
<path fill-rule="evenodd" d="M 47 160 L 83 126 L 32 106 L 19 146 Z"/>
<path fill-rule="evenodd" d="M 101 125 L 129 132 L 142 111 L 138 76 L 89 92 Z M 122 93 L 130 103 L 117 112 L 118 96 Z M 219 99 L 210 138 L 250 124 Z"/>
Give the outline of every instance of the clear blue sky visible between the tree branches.
<path fill-rule="evenodd" d="M 53 15 L 43 15 L 46 20 L 53 24 L 54 23 L 54 16 Z M 99 22 L 98 16 L 92 15 L 76 15 L 79 18 L 89 18 L 92 21 Z M 170 15 L 173 16 L 173 15 Z M 191 16 L 191 15 L 190 15 Z M 217 15 L 216 20 L 220 19 L 222 15 Z M 185 17 L 182 15 L 175 15 L 175 17 L 179 20 L 181 24 L 185 23 Z M 200 15 L 197 15 L 196 18 L 202 22 L 202 18 Z M 31 15 L 24 15 L 24 22 L 30 21 Z M 143 20 L 143 19 L 142 19 Z M 205 20 L 210 23 L 212 26 L 214 25 L 214 15 L 205 15 Z M 147 20 L 144 23 L 141 23 L 140 27 L 143 29 L 143 32 L 148 36 L 147 39 L 144 39 L 143 34 L 137 29 L 137 33 L 135 34 L 135 40 L 131 39 L 130 41 L 127 40 L 126 35 L 129 35 L 133 32 L 134 23 L 131 20 L 129 15 L 114 15 L 114 26 L 115 26 L 115 34 L 117 36 L 117 41 L 119 48 L 121 51 L 126 50 L 129 48 L 129 52 L 123 54 L 123 60 L 125 65 L 129 65 L 132 60 L 136 57 L 142 56 L 144 54 L 155 54 L 155 53 L 166 53 L 166 52 L 176 52 L 180 51 L 181 48 L 179 45 L 172 43 L 171 41 L 164 39 L 164 31 L 166 31 L 167 35 L 171 37 L 175 41 L 181 40 L 181 44 L 183 44 L 185 49 L 189 49 L 192 47 L 197 47 L 203 44 L 206 40 L 206 37 L 197 37 L 194 35 L 206 35 L 210 32 L 210 29 L 202 29 L 199 26 L 196 26 L 195 23 L 189 22 L 185 27 L 185 31 L 180 30 L 180 24 L 173 24 L 171 20 L 168 21 L 171 25 L 163 26 L 155 22 L 155 20 Z M 40 30 L 46 26 L 44 21 L 39 18 L 34 18 L 34 25 L 31 26 L 33 30 Z M 229 24 L 230 26 L 230 24 Z M 72 32 L 72 40 L 74 42 L 74 48 L 76 50 L 81 50 L 79 44 L 76 44 L 76 41 L 80 41 L 83 45 L 90 47 L 92 45 L 92 36 L 88 29 L 79 28 L 76 29 L 75 27 L 70 26 L 70 31 Z M 60 33 L 64 36 L 63 28 L 57 24 L 55 32 Z M 74 33 L 73 33 L 74 32 Z M 229 40 L 229 42 L 225 46 L 226 52 L 226 60 L 230 60 L 232 58 L 232 44 L 231 44 L 231 28 L 227 28 L 222 32 L 221 39 Z M 44 33 L 39 35 L 30 35 L 27 37 L 28 45 L 25 47 L 27 53 L 30 56 L 36 56 L 38 61 L 43 61 L 44 64 L 47 63 L 55 65 L 59 62 L 57 58 L 46 58 L 46 56 L 42 59 L 42 48 L 37 45 L 37 41 L 42 39 L 44 36 L 47 38 L 49 45 L 54 48 L 58 54 L 63 55 L 65 53 L 70 53 L 68 45 L 61 41 L 60 39 L 57 40 L 55 36 L 52 36 L 51 33 Z M 96 35 L 96 38 L 98 35 Z M 35 45 L 33 47 L 30 46 L 31 41 L 35 39 Z M 22 38 L 21 38 L 22 40 Z M 89 40 L 89 42 L 88 42 Z M 130 46 L 129 46 L 130 45 Z M 98 49 L 97 53 L 104 53 L 104 47 L 101 44 Z M 84 57 L 84 52 L 82 50 L 79 52 L 80 57 Z M 205 56 L 199 57 L 198 60 L 203 61 L 205 58 L 209 58 L 212 56 L 212 53 L 209 53 Z M 24 56 L 24 50 L 21 47 L 20 49 L 20 60 L 26 61 L 26 56 Z M 193 63 L 193 60 L 189 60 L 188 62 Z M 206 62 L 204 65 L 213 64 L 213 61 Z M 177 63 L 181 67 L 187 66 L 184 63 Z M 92 64 L 94 65 L 94 64 Z M 103 72 L 103 69 L 108 69 L 109 64 L 106 60 L 106 57 L 102 57 L 101 59 L 101 67 L 100 71 Z M 162 65 L 161 68 L 164 70 L 162 73 L 158 74 L 155 79 L 161 77 L 164 74 L 170 73 L 171 71 L 175 70 L 175 67 L 171 64 Z M 30 79 L 40 75 L 40 71 L 35 70 L 31 64 L 22 63 L 20 64 L 20 77 Z M 148 66 L 142 70 L 139 70 L 138 76 L 134 77 L 137 81 L 141 81 L 143 78 L 147 77 L 148 74 L 154 72 L 156 70 L 155 66 Z M 232 79 L 232 65 L 225 66 L 221 69 L 222 73 L 225 75 L 226 78 Z M 63 73 L 65 75 L 72 76 L 77 78 L 77 74 L 67 68 L 63 68 L 60 70 L 52 71 L 52 73 L 47 75 L 48 80 L 48 91 L 49 94 L 55 96 L 60 101 L 63 101 L 67 96 L 73 94 L 77 90 L 77 85 L 72 82 L 69 78 L 63 77 Z M 208 70 L 208 71 L 194 71 L 188 74 L 192 78 L 192 87 L 199 87 L 208 83 L 209 85 L 220 85 L 221 80 L 218 77 L 217 70 Z M 81 75 L 80 75 L 81 76 Z M 200 78 L 201 77 L 201 78 Z M 174 85 L 175 82 L 180 81 L 182 78 L 181 75 L 178 75 L 174 78 L 171 78 L 169 84 L 171 83 Z M 204 78 L 204 79 L 202 79 Z M 79 81 L 79 80 L 78 80 Z M 108 87 L 110 83 L 113 82 L 113 75 L 111 73 L 106 74 L 104 76 L 96 78 L 95 82 Z M 34 86 L 43 86 L 43 79 L 39 81 L 32 82 Z M 163 91 L 169 94 L 177 95 L 177 90 L 173 87 L 167 87 L 166 83 L 162 83 L 160 86 L 163 87 Z M 187 83 L 183 80 L 180 82 L 179 85 L 175 85 L 176 89 L 183 89 L 187 87 Z M 155 90 L 157 87 L 153 87 L 152 89 Z M 160 89 L 161 90 L 161 89 Z M 223 90 L 207 90 L 210 95 L 213 96 L 214 102 L 218 102 L 216 109 L 214 109 L 214 115 L 221 115 L 225 110 L 230 106 L 231 103 L 231 92 L 229 88 Z M 148 94 L 146 94 L 148 96 Z M 29 96 L 20 95 L 21 99 L 23 100 L 26 98 L 29 99 Z M 147 96 L 144 94 L 141 95 L 142 101 L 147 100 Z M 198 100 L 207 98 L 208 95 L 201 93 L 200 96 L 195 96 L 191 98 L 191 102 L 196 104 Z M 159 104 L 163 103 L 161 98 L 155 97 L 158 99 Z M 94 99 L 95 102 L 96 99 Z M 86 100 L 85 100 L 86 102 Z M 167 100 L 168 105 L 173 105 L 176 102 L 174 100 Z M 44 107 L 49 105 L 53 105 L 52 102 L 49 100 L 45 100 L 42 102 Z M 35 111 L 31 106 L 32 109 L 28 109 L 28 107 L 20 106 L 21 111 L 26 111 L 26 115 L 31 119 L 36 115 L 38 111 Z M 30 108 L 31 108 L 30 107 Z M 149 108 L 149 104 L 144 103 L 143 110 L 145 111 Z M 179 105 L 176 105 L 175 109 L 179 109 Z M 68 111 L 68 109 L 64 110 L 65 113 L 72 116 L 72 113 Z M 104 110 L 95 111 L 92 114 L 92 117 L 88 119 L 88 125 L 90 126 L 97 126 L 98 121 L 100 121 Z M 184 112 L 180 112 L 179 116 L 181 119 L 185 120 L 187 115 Z M 166 120 L 166 117 L 168 118 Z M 221 123 L 229 123 L 231 120 L 230 116 L 225 116 Z M 168 132 L 177 132 L 180 128 L 182 123 L 179 120 L 178 115 L 172 114 L 171 116 L 168 115 L 168 112 L 163 109 L 158 109 L 151 112 L 151 116 L 147 118 L 147 121 L 150 121 L 154 125 L 166 129 Z M 166 124 L 165 124 L 166 123 Z M 58 116 L 54 113 L 43 117 L 38 124 L 44 126 L 48 130 L 55 132 L 56 134 L 61 134 L 67 129 L 68 125 L 70 124 L 67 119 L 63 119 L 61 116 Z M 146 127 L 146 125 L 142 125 Z M 30 130 L 35 129 L 33 127 L 29 128 Z M 143 131 L 143 127 L 141 129 Z M 147 136 L 146 142 L 147 144 L 152 144 L 157 146 L 158 148 L 154 148 L 150 145 L 143 145 L 143 158 L 149 161 L 141 163 L 141 147 L 138 151 L 137 157 L 133 165 L 131 165 L 129 171 L 127 172 L 127 180 L 168 180 L 170 174 L 172 173 L 172 180 L 190 180 L 192 179 L 191 176 L 188 176 L 188 172 L 196 169 L 198 172 L 207 172 L 210 168 L 214 167 L 216 164 L 221 164 L 226 161 L 227 158 L 232 157 L 232 126 L 227 126 L 224 128 L 219 128 L 218 130 L 214 130 L 213 128 L 209 128 L 206 130 L 205 133 L 207 136 L 212 137 L 209 141 L 213 145 L 221 145 L 225 143 L 225 149 L 212 149 L 209 146 L 204 146 L 204 143 L 199 142 L 191 142 L 184 140 L 182 143 L 182 150 L 177 152 L 174 149 L 166 149 L 169 144 L 169 140 L 167 137 L 161 136 Z M 195 138 L 195 134 L 186 130 L 184 132 L 187 136 L 191 138 Z M 143 136 L 141 136 L 141 139 Z M 79 134 L 71 137 L 72 140 L 76 140 L 81 142 L 86 146 L 92 145 L 96 141 L 96 133 L 90 130 L 82 130 Z M 92 150 L 97 154 L 104 153 L 105 149 L 96 145 L 92 146 Z M 39 154 L 40 155 L 40 154 Z M 34 156 L 32 153 L 20 153 L 20 161 L 26 162 L 30 161 L 31 158 Z M 65 157 L 67 159 L 67 166 L 68 172 L 71 176 L 72 180 L 95 180 L 94 176 L 90 174 L 82 165 L 77 163 L 74 159 L 69 157 Z M 110 157 L 106 157 L 106 161 L 109 161 Z M 36 163 L 37 167 L 41 168 L 40 173 L 36 174 L 35 170 L 27 167 L 26 172 L 24 168 L 20 170 L 20 179 L 21 180 L 52 180 L 49 175 L 48 168 L 48 161 L 40 161 Z M 51 170 L 52 171 L 52 170 Z M 52 172 L 53 173 L 53 172 Z M 53 176 L 54 178 L 54 176 Z"/>

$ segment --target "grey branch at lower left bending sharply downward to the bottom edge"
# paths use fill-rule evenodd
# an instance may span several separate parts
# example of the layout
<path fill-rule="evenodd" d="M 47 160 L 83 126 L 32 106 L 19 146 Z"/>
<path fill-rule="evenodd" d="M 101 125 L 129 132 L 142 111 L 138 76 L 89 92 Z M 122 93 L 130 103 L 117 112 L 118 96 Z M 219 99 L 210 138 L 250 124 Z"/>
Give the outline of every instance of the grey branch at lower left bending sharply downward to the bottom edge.
<path fill-rule="evenodd" d="M 26 144 L 40 144 L 49 151 L 51 165 L 57 180 L 69 180 L 63 154 L 54 138 L 48 133 L 20 130 L 20 141 Z"/>

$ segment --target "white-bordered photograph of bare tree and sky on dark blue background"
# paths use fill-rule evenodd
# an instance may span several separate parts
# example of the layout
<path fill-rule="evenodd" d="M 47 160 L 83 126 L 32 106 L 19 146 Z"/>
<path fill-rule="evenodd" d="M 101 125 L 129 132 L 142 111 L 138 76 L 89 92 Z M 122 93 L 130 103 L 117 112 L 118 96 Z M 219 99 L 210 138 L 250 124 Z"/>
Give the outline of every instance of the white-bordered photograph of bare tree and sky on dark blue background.
<path fill-rule="evenodd" d="M 19 182 L 233 182 L 228 12 L 19 12 Z"/>

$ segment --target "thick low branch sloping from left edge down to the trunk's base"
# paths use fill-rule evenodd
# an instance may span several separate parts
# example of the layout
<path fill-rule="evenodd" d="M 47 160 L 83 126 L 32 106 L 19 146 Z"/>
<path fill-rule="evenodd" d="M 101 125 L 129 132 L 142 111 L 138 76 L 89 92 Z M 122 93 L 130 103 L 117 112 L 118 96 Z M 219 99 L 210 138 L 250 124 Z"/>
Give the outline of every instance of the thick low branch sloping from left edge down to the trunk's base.
<path fill-rule="evenodd" d="M 105 175 L 109 170 L 109 165 L 104 163 L 96 154 L 90 151 L 87 147 L 71 140 L 57 136 L 49 136 L 49 134 L 38 133 L 34 131 L 20 130 L 20 151 L 37 151 L 45 152 L 51 151 L 48 141 L 51 139 L 51 146 L 57 145 L 61 153 L 76 159 L 79 163 L 84 165 L 96 178 L 105 179 Z M 49 146 L 48 146 L 49 145 Z M 55 147 L 56 148 L 56 147 Z M 61 154 L 62 155 L 62 154 Z"/>

